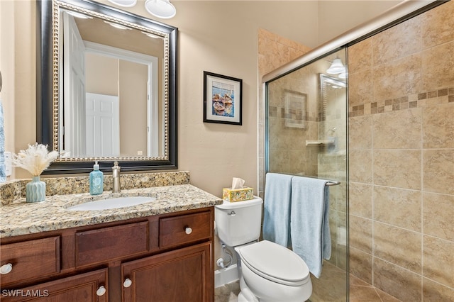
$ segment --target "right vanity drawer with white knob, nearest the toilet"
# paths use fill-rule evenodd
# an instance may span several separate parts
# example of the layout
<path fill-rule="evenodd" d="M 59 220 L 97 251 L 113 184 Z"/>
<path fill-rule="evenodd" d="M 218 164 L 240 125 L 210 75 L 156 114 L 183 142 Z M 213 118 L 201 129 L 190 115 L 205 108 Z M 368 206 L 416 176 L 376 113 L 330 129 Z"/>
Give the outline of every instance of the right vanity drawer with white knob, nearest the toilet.
<path fill-rule="evenodd" d="M 171 247 L 195 242 L 213 235 L 211 212 L 161 218 L 159 221 L 159 246 Z"/>

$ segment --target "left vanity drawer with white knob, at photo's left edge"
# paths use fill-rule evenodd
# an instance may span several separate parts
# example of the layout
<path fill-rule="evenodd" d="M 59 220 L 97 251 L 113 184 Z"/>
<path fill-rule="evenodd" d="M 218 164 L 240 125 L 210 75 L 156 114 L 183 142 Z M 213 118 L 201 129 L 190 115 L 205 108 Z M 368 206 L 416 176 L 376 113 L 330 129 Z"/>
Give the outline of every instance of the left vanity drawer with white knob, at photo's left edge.
<path fill-rule="evenodd" d="M 60 272 L 60 236 L 1 245 L 1 286 Z"/>

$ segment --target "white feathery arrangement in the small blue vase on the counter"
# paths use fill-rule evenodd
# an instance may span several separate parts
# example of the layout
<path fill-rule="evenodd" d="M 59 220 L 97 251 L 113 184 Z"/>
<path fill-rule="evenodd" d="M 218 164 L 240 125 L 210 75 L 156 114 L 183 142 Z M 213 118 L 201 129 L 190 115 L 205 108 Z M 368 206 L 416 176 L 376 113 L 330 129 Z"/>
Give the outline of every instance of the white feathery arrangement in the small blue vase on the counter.
<path fill-rule="evenodd" d="M 33 177 L 40 176 L 57 157 L 57 151 L 48 151 L 48 145 L 38 144 L 28 145 L 27 150 L 21 150 L 18 154 L 13 154 L 12 163 L 15 167 L 21 167 L 30 172 Z"/>

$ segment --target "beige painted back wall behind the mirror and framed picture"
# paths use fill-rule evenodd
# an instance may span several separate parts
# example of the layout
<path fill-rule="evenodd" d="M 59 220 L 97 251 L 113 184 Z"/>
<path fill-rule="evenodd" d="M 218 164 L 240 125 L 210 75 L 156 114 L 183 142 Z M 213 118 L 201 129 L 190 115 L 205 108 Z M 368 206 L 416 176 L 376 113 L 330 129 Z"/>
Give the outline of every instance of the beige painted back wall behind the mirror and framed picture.
<path fill-rule="evenodd" d="M 380 1 L 371 2 L 374 6 Z M 331 21 L 319 20 L 318 1 L 174 3 L 177 16 L 158 21 L 179 28 L 179 169 L 189 170 L 194 185 L 217 196 L 232 177 L 242 177 L 257 192 L 258 30 L 315 47 L 319 23 Z M 0 9 L 1 97 L 8 96 L 6 149 L 18 152 L 35 141 L 35 1 L 0 1 Z M 323 11 L 329 9 L 323 7 Z M 150 18 L 143 1 L 128 11 Z M 368 17 L 354 8 L 351 11 L 358 18 Z M 335 27 L 332 23 L 330 28 Z M 242 126 L 202 122 L 204 70 L 243 79 Z M 17 169 L 12 178 L 26 177 L 30 177 L 27 172 Z"/>

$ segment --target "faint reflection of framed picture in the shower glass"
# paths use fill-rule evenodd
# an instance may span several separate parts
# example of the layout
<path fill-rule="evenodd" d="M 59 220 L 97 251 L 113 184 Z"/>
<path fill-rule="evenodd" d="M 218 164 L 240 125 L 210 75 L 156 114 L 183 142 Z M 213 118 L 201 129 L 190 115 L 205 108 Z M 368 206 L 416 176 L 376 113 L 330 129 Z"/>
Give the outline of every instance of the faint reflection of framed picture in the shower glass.
<path fill-rule="evenodd" d="M 284 125 L 292 128 L 306 128 L 307 94 L 284 90 Z"/>

